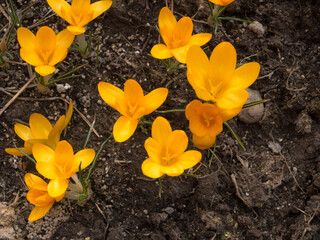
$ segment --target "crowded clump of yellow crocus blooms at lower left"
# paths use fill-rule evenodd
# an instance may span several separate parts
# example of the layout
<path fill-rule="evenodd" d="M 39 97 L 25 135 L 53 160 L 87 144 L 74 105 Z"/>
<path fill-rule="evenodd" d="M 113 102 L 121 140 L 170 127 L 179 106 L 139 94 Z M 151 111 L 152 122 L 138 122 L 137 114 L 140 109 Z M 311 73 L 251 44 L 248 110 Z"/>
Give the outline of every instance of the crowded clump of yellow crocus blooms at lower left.
<path fill-rule="evenodd" d="M 75 176 L 79 168 L 84 169 L 95 157 L 93 149 L 84 149 L 76 154 L 67 141 L 60 141 L 62 130 L 70 122 L 73 105 L 70 102 L 67 115 L 62 115 L 52 127 L 48 119 L 38 113 L 31 114 L 29 125 L 14 125 L 17 135 L 24 140 L 22 148 L 6 148 L 12 155 L 32 154 L 39 174 L 50 182 L 47 184 L 40 177 L 27 173 L 25 182 L 29 188 L 27 199 L 36 207 L 29 216 L 29 221 L 42 218 L 55 201 L 59 202 L 68 189 L 69 178 Z M 72 195 L 72 194 L 69 194 Z"/>

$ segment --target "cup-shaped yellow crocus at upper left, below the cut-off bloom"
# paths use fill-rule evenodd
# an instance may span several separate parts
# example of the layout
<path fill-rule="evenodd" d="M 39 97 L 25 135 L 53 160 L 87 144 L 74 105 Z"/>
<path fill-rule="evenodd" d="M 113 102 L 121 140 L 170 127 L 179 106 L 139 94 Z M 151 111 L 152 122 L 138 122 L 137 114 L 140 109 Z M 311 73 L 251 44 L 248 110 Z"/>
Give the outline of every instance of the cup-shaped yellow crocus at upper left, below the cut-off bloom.
<path fill-rule="evenodd" d="M 39 28 L 36 35 L 29 29 L 20 27 L 17 30 L 18 42 L 21 46 L 21 58 L 32 66 L 41 76 L 53 73 L 55 65 L 66 58 L 68 47 L 74 35 L 67 29 L 57 35 L 49 27 Z"/>

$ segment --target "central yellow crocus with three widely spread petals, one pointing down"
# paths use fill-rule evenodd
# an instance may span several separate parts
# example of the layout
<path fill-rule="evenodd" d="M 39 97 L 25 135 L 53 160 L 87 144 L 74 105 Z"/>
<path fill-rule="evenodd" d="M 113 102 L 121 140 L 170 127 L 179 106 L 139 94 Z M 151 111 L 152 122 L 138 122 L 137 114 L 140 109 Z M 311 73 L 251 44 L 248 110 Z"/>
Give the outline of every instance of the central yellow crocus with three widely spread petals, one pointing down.
<path fill-rule="evenodd" d="M 168 95 L 167 88 L 157 88 L 144 96 L 141 86 L 133 79 L 126 81 L 124 91 L 106 82 L 100 82 L 98 90 L 102 99 L 122 114 L 113 126 L 117 142 L 128 140 L 137 128 L 139 118 L 159 108 Z"/>

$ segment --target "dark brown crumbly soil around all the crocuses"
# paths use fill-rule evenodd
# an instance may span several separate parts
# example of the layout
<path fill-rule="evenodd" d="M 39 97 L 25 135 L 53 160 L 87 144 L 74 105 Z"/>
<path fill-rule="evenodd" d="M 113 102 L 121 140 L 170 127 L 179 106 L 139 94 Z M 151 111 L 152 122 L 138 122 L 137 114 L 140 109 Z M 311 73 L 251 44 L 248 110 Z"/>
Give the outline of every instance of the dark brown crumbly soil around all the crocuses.
<path fill-rule="evenodd" d="M 19 11 L 33 4 L 23 21 L 28 28 L 52 14 L 46 1 L 14 2 Z M 1 4 L 6 7 L 4 1 Z M 63 72 L 87 63 L 77 72 L 80 77 L 63 82 L 70 88 L 61 92 L 52 86 L 48 95 L 42 95 L 32 83 L 1 115 L 0 239 L 320 239 L 317 0 L 236 0 L 224 16 L 258 21 L 262 32 L 252 31 L 247 23 L 223 21 L 206 45 L 210 54 L 218 43 L 231 42 L 238 62 L 261 65 L 251 88 L 271 100 L 264 104 L 263 117 L 253 124 L 237 117 L 229 121 L 246 151 L 224 129 L 217 138 L 212 165 L 203 151 L 201 163 L 192 169 L 200 177 L 164 177 L 159 197 L 158 181 L 141 172 L 147 158 L 143 145 L 149 135 L 138 129 L 130 140 L 106 145 L 92 176 L 93 197 L 84 206 L 64 199 L 42 219 L 28 222 L 33 206 L 25 198 L 23 177 L 26 172 L 35 173 L 35 167 L 26 158 L 4 152 L 5 147 L 22 145 L 13 131 L 14 123 L 27 123 L 33 112 L 50 116 L 54 122 L 65 113 L 62 99 L 71 99 L 90 122 L 96 119 L 97 135 L 92 135 L 88 146 L 98 150 L 119 116 L 100 98 L 100 81 L 123 88 L 124 81 L 132 78 L 146 92 L 166 86 L 169 95 L 159 110 L 185 108 L 196 99 L 184 70 L 169 75 L 162 62 L 149 55 L 160 41 L 155 26 L 163 6 L 163 0 L 116 0 L 87 28 L 87 33 L 92 31 L 100 39 L 98 59 L 95 52 L 87 59 L 70 52 L 59 67 Z M 205 1 L 175 0 L 174 13 L 177 18 L 193 16 L 195 33 L 214 31 L 197 22 L 209 15 Z M 0 14 L 0 29 L 7 23 Z M 39 26 L 44 25 L 56 30 L 67 26 L 56 15 Z M 36 32 L 39 26 L 31 30 Z M 23 63 L 17 41 L 10 52 L 12 61 Z M 7 72 L 0 72 L 0 79 L 1 109 L 29 79 L 27 67 L 11 63 Z M 154 112 L 147 120 L 160 115 L 173 129 L 185 130 L 191 137 L 184 113 Z M 150 133 L 150 126 L 145 127 Z M 62 139 L 78 151 L 88 130 L 75 111 Z M 191 141 L 189 149 L 195 149 Z"/>

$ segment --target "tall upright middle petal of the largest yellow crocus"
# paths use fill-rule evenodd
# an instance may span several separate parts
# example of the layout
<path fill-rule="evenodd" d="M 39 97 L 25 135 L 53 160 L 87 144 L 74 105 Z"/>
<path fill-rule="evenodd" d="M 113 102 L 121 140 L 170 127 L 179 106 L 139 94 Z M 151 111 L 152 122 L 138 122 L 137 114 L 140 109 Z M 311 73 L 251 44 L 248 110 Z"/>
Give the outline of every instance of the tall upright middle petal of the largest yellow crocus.
<path fill-rule="evenodd" d="M 228 83 L 234 73 L 237 53 L 231 43 L 222 42 L 216 46 L 210 56 L 210 80 L 213 86 Z"/>

